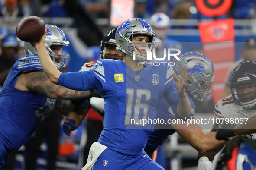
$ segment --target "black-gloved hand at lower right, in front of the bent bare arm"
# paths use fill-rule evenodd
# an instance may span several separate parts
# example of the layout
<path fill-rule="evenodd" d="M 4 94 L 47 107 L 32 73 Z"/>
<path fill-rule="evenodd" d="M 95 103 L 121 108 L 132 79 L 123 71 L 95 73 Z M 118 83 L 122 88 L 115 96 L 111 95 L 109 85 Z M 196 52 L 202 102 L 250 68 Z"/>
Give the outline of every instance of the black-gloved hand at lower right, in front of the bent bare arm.
<path fill-rule="evenodd" d="M 233 128 L 236 126 L 236 124 L 226 123 L 223 121 L 222 124 L 220 124 L 219 129 L 216 133 L 216 139 L 218 140 L 225 140 L 228 141 L 228 137 L 234 136 Z"/>

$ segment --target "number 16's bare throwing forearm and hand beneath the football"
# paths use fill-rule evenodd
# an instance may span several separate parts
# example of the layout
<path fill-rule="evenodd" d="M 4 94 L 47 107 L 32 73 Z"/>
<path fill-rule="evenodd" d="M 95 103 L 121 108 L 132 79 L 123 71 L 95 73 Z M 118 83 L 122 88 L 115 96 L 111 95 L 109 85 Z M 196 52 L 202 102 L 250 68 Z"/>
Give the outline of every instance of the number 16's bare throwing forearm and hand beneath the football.
<path fill-rule="evenodd" d="M 46 34 L 47 29 L 45 27 L 44 35 L 39 39 L 39 41 L 30 43 L 36 49 L 42 69 L 49 78 L 50 82 L 57 84 L 61 72 L 57 69 L 45 48 Z"/>

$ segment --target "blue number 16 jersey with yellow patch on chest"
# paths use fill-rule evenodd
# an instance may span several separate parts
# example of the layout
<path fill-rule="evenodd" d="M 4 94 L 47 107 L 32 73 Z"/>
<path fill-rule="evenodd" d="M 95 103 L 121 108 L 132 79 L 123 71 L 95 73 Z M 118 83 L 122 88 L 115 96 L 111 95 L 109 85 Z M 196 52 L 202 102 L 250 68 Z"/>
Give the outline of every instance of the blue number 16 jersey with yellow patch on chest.
<path fill-rule="evenodd" d="M 62 73 L 58 84 L 99 90 L 105 99 L 105 122 L 98 142 L 114 151 L 139 155 L 154 126 L 135 120 L 154 119 L 163 97 L 170 105 L 178 105 L 173 72 L 170 66 L 148 65 L 136 74 L 122 60 L 99 59 L 87 72 Z"/>

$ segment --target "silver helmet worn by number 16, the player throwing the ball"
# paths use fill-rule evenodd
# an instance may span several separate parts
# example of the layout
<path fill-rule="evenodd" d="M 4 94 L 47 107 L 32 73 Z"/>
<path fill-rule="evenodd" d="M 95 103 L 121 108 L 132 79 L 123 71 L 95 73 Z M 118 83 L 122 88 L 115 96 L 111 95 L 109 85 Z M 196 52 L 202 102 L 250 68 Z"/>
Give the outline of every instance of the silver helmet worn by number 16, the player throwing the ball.
<path fill-rule="evenodd" d="M 137 34 L 148 35 L 149 42 L 133 43 L 133 36 Z M 121 53 L 133 56 L 133 51 L 136 51 L 134 44 L 145 44 L 144 47 L 148 46 L 149 50 L 152 51 L 155 48 L 155 39 L 156 34 L 152 31 L 151 26 L 146 20 L 142 18 L 130 18 L 126 19 L 117 29 L 116 48 Z M 135 58 L 139 62 L 145 61 L 147 59 L 146 52 L 140 54 L 135 53 Z"/>

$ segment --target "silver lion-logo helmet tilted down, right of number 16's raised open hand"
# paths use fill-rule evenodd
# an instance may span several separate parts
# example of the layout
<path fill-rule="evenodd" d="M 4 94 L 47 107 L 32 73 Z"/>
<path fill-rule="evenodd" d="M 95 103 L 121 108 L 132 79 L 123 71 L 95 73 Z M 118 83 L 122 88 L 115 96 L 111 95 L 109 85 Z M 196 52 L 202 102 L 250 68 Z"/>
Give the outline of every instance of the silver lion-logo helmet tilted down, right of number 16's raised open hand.
<path fill-rule="evenodd" d="M 174 71 L 180 77 L 184 66 L 188 67 L 190 76 L 186 84 L 186 90 L 199 101 L 203 101 L 211 94 L 211 88 L 206 83 L 214 82 L 214 66 L 211 60 L 204 54 L 198 52 L 187 52 L 182 54 L 180 61 L 176 61 Z"/>

